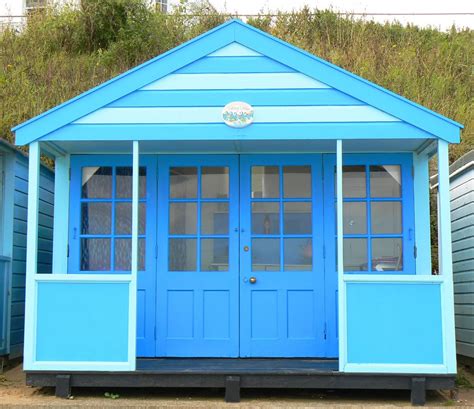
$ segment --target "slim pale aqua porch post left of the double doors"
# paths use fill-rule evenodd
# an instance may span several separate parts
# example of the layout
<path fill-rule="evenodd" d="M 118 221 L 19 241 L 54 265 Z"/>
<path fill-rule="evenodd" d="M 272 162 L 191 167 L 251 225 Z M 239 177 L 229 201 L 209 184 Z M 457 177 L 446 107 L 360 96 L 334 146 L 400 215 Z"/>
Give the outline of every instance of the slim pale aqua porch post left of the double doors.
<path fill-rule="evenodd" d="M 133 141 L 133 170 L 132 170 L 132 260 L 131 260 L 131 280 L 130 280 L 130 311 L 129 311 L 129 340 L 128 353 L 129 361 L 133 362 L 135 370 L 136 361 L 136 326 L 137 326 L 137 276 L 138 276 L 138 200 L 140 182 L 140 146 L 138 141 Z"/>

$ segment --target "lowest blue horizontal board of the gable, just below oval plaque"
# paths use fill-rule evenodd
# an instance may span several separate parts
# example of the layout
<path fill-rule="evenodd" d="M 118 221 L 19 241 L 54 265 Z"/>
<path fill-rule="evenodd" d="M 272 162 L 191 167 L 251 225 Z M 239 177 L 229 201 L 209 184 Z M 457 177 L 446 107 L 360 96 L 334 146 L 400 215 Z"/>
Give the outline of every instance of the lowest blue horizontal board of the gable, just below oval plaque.
<path fill-rule="evenodd" d="M 48 141 L 226 141 L 420 139 L 433 135 L 404 122 L 256 123 L 237 129 L 221 124 L 72 124 L 47 135 Z M 182 149 L 182 147 L 180 148 Z"/>

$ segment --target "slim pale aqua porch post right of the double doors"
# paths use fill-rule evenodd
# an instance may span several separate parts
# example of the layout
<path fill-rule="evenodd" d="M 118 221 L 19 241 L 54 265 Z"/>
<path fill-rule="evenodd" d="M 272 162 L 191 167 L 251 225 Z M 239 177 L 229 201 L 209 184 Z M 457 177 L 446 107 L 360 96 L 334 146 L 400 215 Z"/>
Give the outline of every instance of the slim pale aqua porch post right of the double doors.
<path fill-rule="evenodd" d="M 342 140 L 336 143 L 337 287 L 339 311 L 339 371 L 346 365 L 346 291 L 344 287 L 344 231 L 342 192 Z"/>

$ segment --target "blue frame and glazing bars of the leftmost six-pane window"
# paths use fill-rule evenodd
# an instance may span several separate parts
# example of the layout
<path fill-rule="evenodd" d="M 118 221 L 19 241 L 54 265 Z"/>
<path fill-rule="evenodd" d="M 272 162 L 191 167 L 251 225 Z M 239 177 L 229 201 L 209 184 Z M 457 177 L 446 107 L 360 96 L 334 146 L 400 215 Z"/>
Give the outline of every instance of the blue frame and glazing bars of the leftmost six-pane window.
<path fill-rule="evenodd" d="M 82 198 L 82 168 L 84 167 L 112 167 L 112 195 L 110 198 Z M 131 155 L 72 155 L 70 198 L 69 198 L 69 254 L 68 274 L 130 274 L 130 270 L 115 270 L 115 240 L 131 239 L 130 234 L 115 234 L 115 204 L 131 203 L 132 198 L 117 198 L 113 186 L 116 184 L 116 171 L 118 167 L 132 167 Z M 139 199 L 146 205 L 146 225 L 144 234 L 139 234 L 138 239 L 145 239 L 145 266 L 143 271 L 153 267 L 156 243 L 156 160 L 147 155 L 140 157 L 140 167 L 146 168 L 146 195 Z M 110 234 L 81 233 L 81 206 L 82 203 L 111 203 L 111 232 Z M 107 238 L 110 239 L 110 269 L 109 270 L 81 270 L 81 239 L 82 238 Z"/>

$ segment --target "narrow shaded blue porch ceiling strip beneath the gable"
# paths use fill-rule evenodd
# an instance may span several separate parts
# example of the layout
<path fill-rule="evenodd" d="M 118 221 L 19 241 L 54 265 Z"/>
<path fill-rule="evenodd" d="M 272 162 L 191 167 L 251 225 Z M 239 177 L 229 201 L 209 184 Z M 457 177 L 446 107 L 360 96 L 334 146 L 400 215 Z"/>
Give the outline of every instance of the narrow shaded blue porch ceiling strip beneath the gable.
<path fill-rule="evenodd" d="M 343 142 L 344 153 L 415 152 L 428 139 L 357 139 Z M 43 144 L 42 144 L 43 145 Z M 131 141 L 55 141 L 42 149 L 70 154 L 132 153 Z M 141 141 L 141 153 L 335 153 L 334 140 L 214 140 Z"/>

